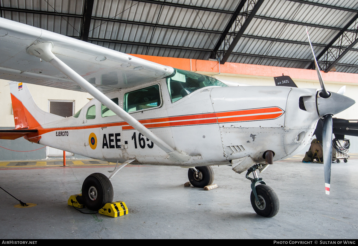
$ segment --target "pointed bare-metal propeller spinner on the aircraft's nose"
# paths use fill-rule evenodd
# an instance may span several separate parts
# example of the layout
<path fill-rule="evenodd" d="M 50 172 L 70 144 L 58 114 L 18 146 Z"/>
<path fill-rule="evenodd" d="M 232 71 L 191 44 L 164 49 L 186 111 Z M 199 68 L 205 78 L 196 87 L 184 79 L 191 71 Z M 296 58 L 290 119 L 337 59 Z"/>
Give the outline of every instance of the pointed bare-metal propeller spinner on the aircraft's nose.
<path fill-rule="evenodd" d="M 335 92 L 329 93 L 330 96 L 328 98 L 320 97 L 319 93 L 317 94 L 317 110 L 318 115 L 321 117 L 324 115 L 338 114 L 355 103 L 355 101 L 350 97 Z"/>

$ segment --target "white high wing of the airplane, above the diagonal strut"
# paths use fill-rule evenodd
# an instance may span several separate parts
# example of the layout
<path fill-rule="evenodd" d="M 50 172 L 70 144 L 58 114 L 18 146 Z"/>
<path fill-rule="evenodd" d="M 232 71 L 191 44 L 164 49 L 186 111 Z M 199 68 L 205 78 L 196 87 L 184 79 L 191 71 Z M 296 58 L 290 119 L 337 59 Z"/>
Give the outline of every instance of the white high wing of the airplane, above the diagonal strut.
<path fill-rule="evenodd" d="M 26 49 L 50 41 L 52 52 L 98 90 L 108 92 L 169 76 L 173 68 L 95 44 L 0 18 L 0 79 L 84 91 Z"/>

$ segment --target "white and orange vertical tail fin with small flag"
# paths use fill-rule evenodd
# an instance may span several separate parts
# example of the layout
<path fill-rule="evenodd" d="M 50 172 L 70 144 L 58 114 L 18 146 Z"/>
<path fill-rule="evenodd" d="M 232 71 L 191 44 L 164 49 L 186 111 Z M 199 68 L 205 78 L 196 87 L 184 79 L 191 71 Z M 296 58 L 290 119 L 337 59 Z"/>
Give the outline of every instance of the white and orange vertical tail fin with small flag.
<path fill-rule="evenodd" d="M 45 123 L 63 119 L 61 116 L 41 110 L 33 100 L 25 83 L 10 82 L 10 93 L 15 129 L 34 129 Z"/>

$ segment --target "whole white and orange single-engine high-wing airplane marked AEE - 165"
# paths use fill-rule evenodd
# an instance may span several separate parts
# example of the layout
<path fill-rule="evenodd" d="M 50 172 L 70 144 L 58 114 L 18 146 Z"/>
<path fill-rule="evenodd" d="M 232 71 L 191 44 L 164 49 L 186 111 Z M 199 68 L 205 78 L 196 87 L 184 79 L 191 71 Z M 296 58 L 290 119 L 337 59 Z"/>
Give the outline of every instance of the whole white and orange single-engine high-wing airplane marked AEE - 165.
<path fill-rule="evenodd" d="M 323 117 L 329 194 L 332 115 L 354 100 L 327 92 L 318 69 L 321 90 L 228 87 L 212 77 L 3 18 L 0 49 L 0 78 L 13 81 L 16 126 L 2 130 L 3 139 L 24 136 L 33 143 L 124 165 L 136 161 L 185 167 L 194 187 L 212 184 L 211 165 L 231 165 L 237 173 L 247 171 L 255 212 L 273 217 L 279 199 L 256 170 L 262 172 L 273 161 L 300 151 Z M 87 91 L 94 99 L 63 118 L 40 110 L 23 82 Z M 112 201 L 109 178 L 94 173 L 84 180 L 82 197 L 89 209 Z"/>

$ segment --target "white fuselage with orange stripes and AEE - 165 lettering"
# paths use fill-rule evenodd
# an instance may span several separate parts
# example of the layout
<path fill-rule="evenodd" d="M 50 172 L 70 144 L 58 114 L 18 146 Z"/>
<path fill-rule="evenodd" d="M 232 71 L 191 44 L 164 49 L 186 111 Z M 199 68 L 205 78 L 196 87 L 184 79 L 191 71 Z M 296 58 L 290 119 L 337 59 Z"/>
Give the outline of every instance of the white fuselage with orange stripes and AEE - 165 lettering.
<path fill-rule="evenodd" d="M 319 117 L 314 102 L 310 105 L 306 101 L 305 108 L 300 108 L 299 101 L 310 98 L 316 90 L 226 87 L 214 78 L 175 71 L 174 76 L 106 96 L 166 143 L 191 155 L 189 161 L 168 160 L 163 150 L 95 98 L 72 117 L 35 127 L 38 132 L 27 138 L 95 159 L 124 162 L 135 158 L 141 164 L 187 167 L 228 165 L 246 156 L 262 163 L 267 150 L 272 150 L 274 160 L 279 160 L 309 143 Z M 219 86 L 194 87 L 200 79 Z M 11 87 L 16 97 L 18 83 Z M 23 89 L 18 93 L 26 93 L 25 84 Z M 189 94 L 183 97 L 180 91 Z M 287 107 L 291 109 L 288 112 Z"/>

